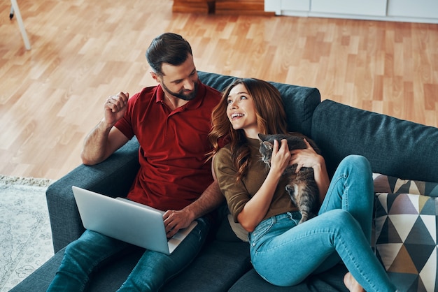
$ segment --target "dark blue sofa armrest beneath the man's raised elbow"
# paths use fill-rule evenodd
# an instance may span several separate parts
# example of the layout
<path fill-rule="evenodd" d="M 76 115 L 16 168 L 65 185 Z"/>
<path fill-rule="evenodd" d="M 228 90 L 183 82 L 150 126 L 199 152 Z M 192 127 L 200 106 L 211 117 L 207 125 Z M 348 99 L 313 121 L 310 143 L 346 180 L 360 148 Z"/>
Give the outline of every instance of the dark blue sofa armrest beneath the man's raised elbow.
<path fill-rule="evenodd" d="M 55 253 L 85 231 L 71 187 L 89 189 L 107 196 L 126 196 L 139 170 L 139 143 L 136 138 L 95 166 L 81 164 L 51 184 L 47 199 Z"/>

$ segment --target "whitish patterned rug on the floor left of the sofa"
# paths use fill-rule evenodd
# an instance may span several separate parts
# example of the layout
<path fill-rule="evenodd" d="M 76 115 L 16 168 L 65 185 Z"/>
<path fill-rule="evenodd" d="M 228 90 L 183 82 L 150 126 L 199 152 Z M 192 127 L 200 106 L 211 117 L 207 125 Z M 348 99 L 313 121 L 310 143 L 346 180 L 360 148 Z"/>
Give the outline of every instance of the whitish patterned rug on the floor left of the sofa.
<path fill-rule="evenodd" d="M 0 175 L 0 291 L 53 256 L 45 189 L 50 180 Z"/>

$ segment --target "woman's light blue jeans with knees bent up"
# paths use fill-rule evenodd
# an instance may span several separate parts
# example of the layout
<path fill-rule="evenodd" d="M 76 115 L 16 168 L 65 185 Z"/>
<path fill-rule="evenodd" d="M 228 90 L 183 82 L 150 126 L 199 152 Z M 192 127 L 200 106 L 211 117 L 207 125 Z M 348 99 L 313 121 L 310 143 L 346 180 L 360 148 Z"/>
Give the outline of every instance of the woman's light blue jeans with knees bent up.
<path fill-rule="evenodd" d="M 297 225 L 299 212 L 279 214 L 249 234 L 255 270 L 271 284 L 292 286 L 342 260 L 366 291 L 395 291 L 370 247 L 373 204 L 369 162 L 347 156 L 317 217 Z"/>

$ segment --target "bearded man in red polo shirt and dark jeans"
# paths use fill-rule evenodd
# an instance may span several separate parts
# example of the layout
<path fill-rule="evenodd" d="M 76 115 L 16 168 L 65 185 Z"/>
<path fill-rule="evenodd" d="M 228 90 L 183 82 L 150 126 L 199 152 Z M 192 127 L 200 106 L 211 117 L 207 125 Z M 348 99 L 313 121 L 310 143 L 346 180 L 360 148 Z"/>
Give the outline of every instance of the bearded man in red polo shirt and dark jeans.
<path fill-rule="evenodd" d="M 195 219 L 198 224 L 170 256 L 145 250 L 120 291 L 157 291 L 188 265 L 209 231 L 204 215 L 223 200 L 206 163 L 211 110 L 220 93 L 199 81 L 190 44 L 177 34 L 157 36 L 146 57 L 158 85 L 132 98 L 125 92 L 108 97 L 104 118 L 85 138 L 81 158 L 88 165 L 99 163 L 136 136 L 140 169 L 127 198 L 167 211 L 169 238 Z M 129 249 L 126 242 L 85 231 L 66 248 L 48 290 L 82 291 L 94 268 Z"/>

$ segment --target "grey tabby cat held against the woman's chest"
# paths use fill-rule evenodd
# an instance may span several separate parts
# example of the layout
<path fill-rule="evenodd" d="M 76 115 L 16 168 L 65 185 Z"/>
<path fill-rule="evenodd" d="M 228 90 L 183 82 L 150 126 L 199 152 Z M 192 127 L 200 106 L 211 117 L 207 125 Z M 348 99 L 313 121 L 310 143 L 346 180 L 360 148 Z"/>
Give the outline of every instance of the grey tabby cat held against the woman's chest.
<path fill-rule="evenodd" d="M 289 133 L 285 135 L 258 135 L 262 142 L 260 143 L 260 154 L 262 154 L 262 161 L 269 167 L 271 166 L 272 147 L 274 140 L 280 142 L 282 139 L 288 140 L 289 150 L 306 149 L 307 145 L 304 138 L 309 142 L 316 153 L 321 154 L 320 149 L 313 140 L 307 138 L 301 133 Z M 297 164 L 288 166 L 283 175 L 288 175 L 288 185 L 286 191 L 288 192 L 292 202 L 298 207 L 302 218 L 298 224 L 302 224 L 313 217 L 316 217 L 319 209 L 319 190 L 313 174 L 313 168 L 302 167 L 298 173 Z"/>

